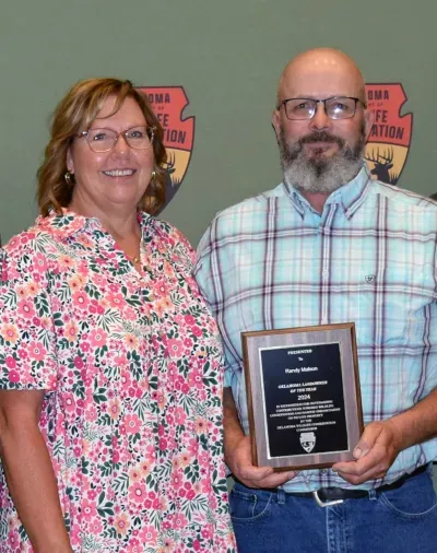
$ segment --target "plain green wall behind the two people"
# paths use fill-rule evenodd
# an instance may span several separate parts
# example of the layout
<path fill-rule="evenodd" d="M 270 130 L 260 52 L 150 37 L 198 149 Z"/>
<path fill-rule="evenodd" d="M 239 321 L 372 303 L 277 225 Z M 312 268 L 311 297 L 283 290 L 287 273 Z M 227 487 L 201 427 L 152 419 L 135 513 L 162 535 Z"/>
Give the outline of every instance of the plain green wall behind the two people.
<path fill-rule="evenodd" d="M 69 86 L 118 75 L 184 85 L 196 116 L 184 183 L 162 216 L 196 245 L 214 213 L 281 180 L 270 117 L 277 78 L 298 51 L 333 46 L 367 82 L 402 82 L 413 111 L 399 185 L 434 179 L 437 3 L 432 0 L 40 0 L 0 16 L 0 232 L 32 223 L 49 114 Z"/>

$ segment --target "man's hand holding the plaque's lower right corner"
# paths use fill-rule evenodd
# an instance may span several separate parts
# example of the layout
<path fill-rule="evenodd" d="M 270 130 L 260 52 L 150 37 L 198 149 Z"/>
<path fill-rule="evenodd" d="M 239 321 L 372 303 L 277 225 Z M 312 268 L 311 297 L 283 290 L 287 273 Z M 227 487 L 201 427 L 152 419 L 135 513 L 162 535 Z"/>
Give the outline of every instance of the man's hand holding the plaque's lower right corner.
<path fill-rule="evenodd" d="M 336 462 L 332 470 L 351 484 L 362 484 L 386 475 L 402 449 L 392 420 L 368 424 L 354 449 L 355 461 Z"/>

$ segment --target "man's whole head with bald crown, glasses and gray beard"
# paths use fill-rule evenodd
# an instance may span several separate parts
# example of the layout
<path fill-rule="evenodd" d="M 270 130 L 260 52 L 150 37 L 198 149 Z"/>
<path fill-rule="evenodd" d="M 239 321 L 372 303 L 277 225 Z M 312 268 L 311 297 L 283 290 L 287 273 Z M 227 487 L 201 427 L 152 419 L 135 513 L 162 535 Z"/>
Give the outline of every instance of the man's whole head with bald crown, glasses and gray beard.
<path fill-rule="evenodd" d="M 328 98 L 336 98 L 329 109 Z M 328 197 L 352 180 L 363 166 L 371 121 L 363 75 L 351 58 L 332 48 L 294 58 L 281 75 L 272 117 L 285 183 Z"/>

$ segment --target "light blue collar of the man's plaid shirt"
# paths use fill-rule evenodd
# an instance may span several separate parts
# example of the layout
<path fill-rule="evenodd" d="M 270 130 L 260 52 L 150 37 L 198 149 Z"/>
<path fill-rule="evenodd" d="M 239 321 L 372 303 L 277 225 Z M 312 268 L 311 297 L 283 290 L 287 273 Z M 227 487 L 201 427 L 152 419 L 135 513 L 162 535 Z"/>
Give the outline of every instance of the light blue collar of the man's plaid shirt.
<path fill-rule="evenodd" d="M 367 165 L 363 163 L 356 177 L 350 180 L 346 185 L 341 186 L 338 190 L 332 192 L 326 203 L 339 203 L 342 205 L 346 219 L 351 219 L 359 205 L 363 203 L 370 185 L 371 178 Z M 308 200 L 294 187 L 284 183 L 285 193 L 288 196 L 292 204 L 296 211 L 304 219 L 306 210 L 312 210 Z M 314 210 L 312 210 L 314 211 Z"/>

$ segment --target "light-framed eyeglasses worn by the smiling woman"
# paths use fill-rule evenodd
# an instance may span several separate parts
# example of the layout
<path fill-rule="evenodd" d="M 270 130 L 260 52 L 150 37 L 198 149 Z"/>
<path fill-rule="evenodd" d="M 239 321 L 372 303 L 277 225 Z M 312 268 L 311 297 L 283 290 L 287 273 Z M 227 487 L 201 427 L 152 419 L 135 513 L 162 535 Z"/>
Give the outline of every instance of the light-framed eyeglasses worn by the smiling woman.
<path fill-rule="evenodd" d="M 117 144 L 120 136 L 123 137 L 128 146 L 133 150 L 147 150 L 153 143 L 156 127 L 132 127 L 116 132 L 111 129 L 88 129 L 80 132 L 79 138 L 84 138 L 93 152 L 109 152 Z"/>

